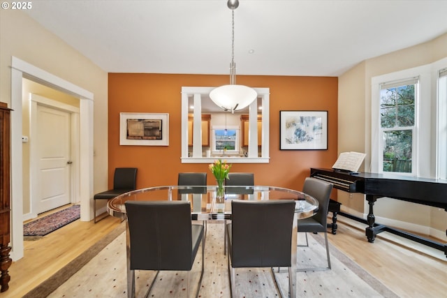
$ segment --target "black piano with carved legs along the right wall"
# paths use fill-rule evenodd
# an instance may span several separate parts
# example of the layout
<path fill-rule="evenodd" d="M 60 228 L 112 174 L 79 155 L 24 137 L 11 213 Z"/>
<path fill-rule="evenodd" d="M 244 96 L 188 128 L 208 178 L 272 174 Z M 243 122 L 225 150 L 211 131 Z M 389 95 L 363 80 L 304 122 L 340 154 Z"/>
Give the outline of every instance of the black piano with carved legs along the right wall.
<path fill-rule="evenodd" d="M 419 177 L 403 177 L 397 174 L 349 173 L 332 169 L 311 168 L 310 176 L 334 184 L 334 188 L 349 193 L 365 193 L 369 204 L 367 220 L 340 212 L 342 216 L 367 223 L 366 236 L 369 242 L 374 242 L 379 232 L 390 232 L 406 239 L 417 241 L 432 248 L 444 251 L 447 257 L 447 244 L 441 244 L 409 232 L 397 230 L 375 223 L 373 206 L 378 198 L 387 197 L 444 208 L 447 211 L 447 180 Z M 447 234 L 447 230 L 446 230 Z"/>

